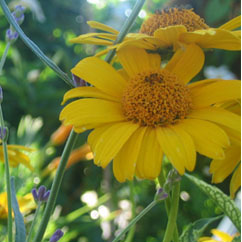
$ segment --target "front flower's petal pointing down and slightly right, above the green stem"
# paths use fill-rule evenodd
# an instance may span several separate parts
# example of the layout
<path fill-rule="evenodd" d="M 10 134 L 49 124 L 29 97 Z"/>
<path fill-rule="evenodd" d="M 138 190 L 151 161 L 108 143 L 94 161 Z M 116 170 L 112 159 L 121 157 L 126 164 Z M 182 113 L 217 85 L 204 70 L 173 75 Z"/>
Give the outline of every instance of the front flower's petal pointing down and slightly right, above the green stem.
<path fill-rule="evenodd" d="M 185 132 L 180 132 L 179 129 L 171 129 L 170 127 L 159 127 L 156 128 L 156 135 L 158 142 L 165 155 L 168 157 L 172 165 L 178 170 L 180 174 L 184 174 L 185 166 L 190 162 L 190 152 L 193 153 L 192 163 L 195 162 L 196 154 L 194 155 L 194 150 L 189 150 L 189 144 L 184 144 L 185 139 L 188 135 L 184 135 Z M 191 139 L 189 143 L 191 144 Z M 194 167 L 194 164 L 193 164 Z M 192 167 L 192 168 L 193 168 Z"/>

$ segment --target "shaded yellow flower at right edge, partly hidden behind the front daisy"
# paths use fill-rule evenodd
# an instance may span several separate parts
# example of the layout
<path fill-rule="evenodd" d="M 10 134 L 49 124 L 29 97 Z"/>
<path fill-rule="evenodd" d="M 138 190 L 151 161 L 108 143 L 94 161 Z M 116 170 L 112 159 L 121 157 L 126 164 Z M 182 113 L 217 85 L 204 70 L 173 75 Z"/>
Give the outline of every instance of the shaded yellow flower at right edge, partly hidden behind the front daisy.
<path fill-rule="evenodd" d="M 222 105 L 227 110 L 240 115 L 240 103 L 229 102 Z M 234 198 L 236 191 L 241 186 L 241 134 L 226 127 L 231 146 L 225 150 L 225 158 L 223 160 L 214 159 L 210 165 L 210 172 L 213 174 L 212 182 L 220 183 L 226 177 L 233 173 L 230 181 L 230 195 Z"/>

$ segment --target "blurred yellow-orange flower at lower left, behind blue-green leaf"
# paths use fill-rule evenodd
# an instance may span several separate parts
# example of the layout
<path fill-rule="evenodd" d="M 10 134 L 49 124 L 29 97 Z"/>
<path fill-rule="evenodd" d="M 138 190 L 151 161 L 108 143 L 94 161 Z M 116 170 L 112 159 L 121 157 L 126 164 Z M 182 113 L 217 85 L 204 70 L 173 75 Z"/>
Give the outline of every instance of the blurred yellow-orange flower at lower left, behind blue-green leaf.
<path fill-rule="evenodd" d="M 31 193 L 18 198 L 19 209 L 21 213 L 29 213 L 32 209 L 36 207 L 33 196 Z M 8 217 L 8 202 L 7 193 L 0 193 L 0 219 L 6 219 Z"/>

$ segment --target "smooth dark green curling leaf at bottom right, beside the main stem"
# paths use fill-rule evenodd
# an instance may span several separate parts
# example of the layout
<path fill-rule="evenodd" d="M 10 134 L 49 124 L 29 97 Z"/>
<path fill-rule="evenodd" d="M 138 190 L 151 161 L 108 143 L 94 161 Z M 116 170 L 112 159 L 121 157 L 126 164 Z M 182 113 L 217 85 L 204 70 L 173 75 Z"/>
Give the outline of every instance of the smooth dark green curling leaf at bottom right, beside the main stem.
<path fill-rule="evenodd" d="M 195 221 L 183 231 L 182 235 L 179 238 L 179 242 L 198 241 L 207 226 L 220 218 L 222 218 L 222 216 L 218 216 L 216 218 L 202 218 Z"/>

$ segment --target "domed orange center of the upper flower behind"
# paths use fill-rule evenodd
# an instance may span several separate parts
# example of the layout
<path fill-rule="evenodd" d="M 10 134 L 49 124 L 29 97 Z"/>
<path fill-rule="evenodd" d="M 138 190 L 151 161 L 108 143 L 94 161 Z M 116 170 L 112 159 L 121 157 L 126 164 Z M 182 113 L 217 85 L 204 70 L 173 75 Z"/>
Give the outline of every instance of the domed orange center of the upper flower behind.
<path fill-rule="evenodd" d="M 195 14 L 192 9 L 170 8 L 151 15 L 142 24 L 140 33 L 152 36 L 157 29 L 174 25 L 184 25 L 188 32 L 209 28 L 204 19 Z"/>

